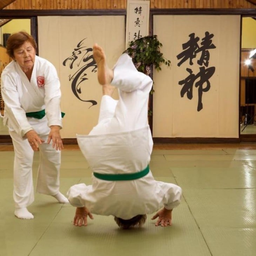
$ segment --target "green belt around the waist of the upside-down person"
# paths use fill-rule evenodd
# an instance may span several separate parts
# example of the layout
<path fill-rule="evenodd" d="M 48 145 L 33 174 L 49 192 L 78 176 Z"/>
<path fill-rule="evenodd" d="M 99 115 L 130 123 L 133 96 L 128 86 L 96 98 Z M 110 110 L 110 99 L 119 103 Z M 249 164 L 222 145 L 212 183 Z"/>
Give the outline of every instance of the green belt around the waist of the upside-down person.
<path fill-rule="evenodd" d="M 144 170 L 139 171 L 138 173 L 119 173 L 119 174 L 103 174 L 103 173 L 93 173 L 96 178 L 105 181 L 130 181 L 137 180 L 138 178 L 142 178 L 149 173 L 149 166 L 147 166 Z"/>

